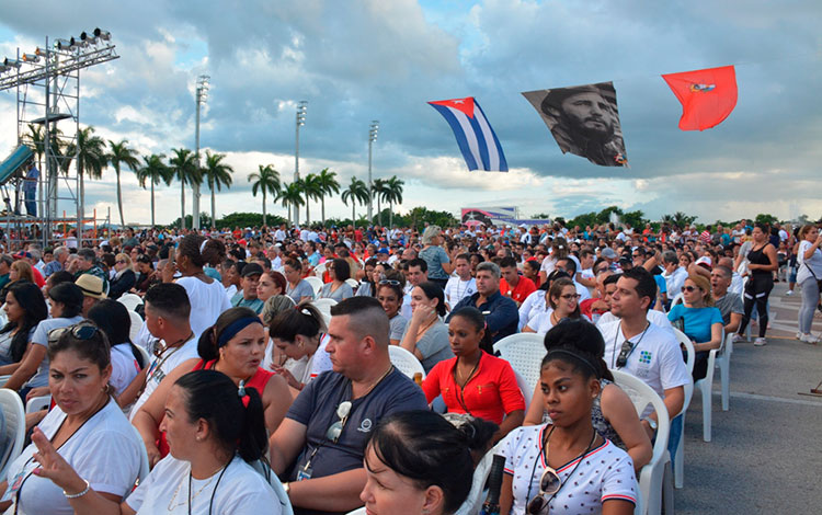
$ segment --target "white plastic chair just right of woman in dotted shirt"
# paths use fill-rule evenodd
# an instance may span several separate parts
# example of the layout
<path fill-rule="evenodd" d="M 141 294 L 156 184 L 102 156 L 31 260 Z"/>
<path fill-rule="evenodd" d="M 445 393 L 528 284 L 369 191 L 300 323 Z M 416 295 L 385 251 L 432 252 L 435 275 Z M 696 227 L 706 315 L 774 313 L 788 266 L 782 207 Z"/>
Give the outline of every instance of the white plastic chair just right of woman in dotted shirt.
<path fill-rule="evenodd" d="M 648 404 L 657 412 L 657 438 L 653 443 L 651 461 L 639 471 L 639 499 L 635 515 L 659 515 L 665 501 L 665 513 L 674 513 L 673 488 L 671 485 L 671 455 L 667 453 L 667 436 L 671 421 L 662 398 L 641 379 L 621 370 L 610 370 L 614 382 L 633 402 L 637 414 L 642 416 Z M 665 495 L 662 494 L 663 488 Z"/>

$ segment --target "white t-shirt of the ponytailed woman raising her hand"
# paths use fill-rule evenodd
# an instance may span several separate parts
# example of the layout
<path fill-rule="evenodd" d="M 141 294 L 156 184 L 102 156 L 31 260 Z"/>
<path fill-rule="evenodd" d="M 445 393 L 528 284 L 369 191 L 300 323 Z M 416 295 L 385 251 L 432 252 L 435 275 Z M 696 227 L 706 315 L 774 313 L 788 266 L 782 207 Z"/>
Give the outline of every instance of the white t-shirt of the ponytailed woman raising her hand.
<path fill-rule="evenodd" d="M 169 455 L 126 499 L 140 515 L 213 513 L 215 515 L 279 515 L 277 494 L 258 471 L 239 457 L 208 479 L 192 479 L 191 464 Z M 219 484 L 217 481 L 219 480 Z M 216 490 L 215 490 L 216 488 Z M 214 503 L 212 504 L 212 495 Z M 191 510 L 189 510 L 191 499 Z M 212 510 L 209 512 L 209 504 Z"/>

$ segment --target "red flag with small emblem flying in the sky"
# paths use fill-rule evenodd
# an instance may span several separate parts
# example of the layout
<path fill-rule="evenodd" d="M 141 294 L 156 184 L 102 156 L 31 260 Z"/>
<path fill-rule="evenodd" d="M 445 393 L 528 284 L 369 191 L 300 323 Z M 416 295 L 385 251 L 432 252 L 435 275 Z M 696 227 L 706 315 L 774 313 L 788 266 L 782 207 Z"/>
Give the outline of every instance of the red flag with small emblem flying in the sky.
<path fill-rule="evenodd" d="M 719 125 L 737 106 L 737 75 L 732 66 L 662 76 L 682 104 L 682 130 Z"/>

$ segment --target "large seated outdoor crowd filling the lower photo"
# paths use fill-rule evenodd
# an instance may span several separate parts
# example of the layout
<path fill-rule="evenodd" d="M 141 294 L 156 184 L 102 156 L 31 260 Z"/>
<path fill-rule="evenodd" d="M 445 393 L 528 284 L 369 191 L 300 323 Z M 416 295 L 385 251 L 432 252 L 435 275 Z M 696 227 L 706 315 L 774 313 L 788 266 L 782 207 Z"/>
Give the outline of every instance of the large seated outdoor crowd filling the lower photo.
<path fill-rule="evenodd" d="M 767 343 L 775 282 L 801 288 L 797 339 L 817 343 L 813 225 L 127 228 L 62 243 L 0 255 L 0 375 L 23 402 L 50 396 L 0 478 L 2 511 L 278 514 L 287 496 L 297 514 L 452 514 L 493 447 L 501 513 L 629 514 L 658 414 L 612 370 L 660 396 L 673 450 L 710 351 L 754 323 Z M 533 392 L 494 353 L 520 332 L 545 344 Z"/>

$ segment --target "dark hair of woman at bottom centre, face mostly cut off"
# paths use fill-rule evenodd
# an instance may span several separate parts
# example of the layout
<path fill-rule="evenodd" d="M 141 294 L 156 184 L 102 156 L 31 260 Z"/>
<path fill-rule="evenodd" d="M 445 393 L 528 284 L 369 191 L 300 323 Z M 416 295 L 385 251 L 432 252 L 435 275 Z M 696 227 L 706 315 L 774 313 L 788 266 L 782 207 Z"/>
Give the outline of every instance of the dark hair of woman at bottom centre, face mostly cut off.
<path fill-rule="evenodd" d="M 473 479 L 469 427 L 457 428 L 432 411 L 403 411 L 380 421 L 367 449 L 419 490 L 442 489 L 443 513 L 454 513 L 468 497 Z M 377 464 L 369 462 L 367 450 L 365 456 L 365 468 L 373 470 Z"/>

